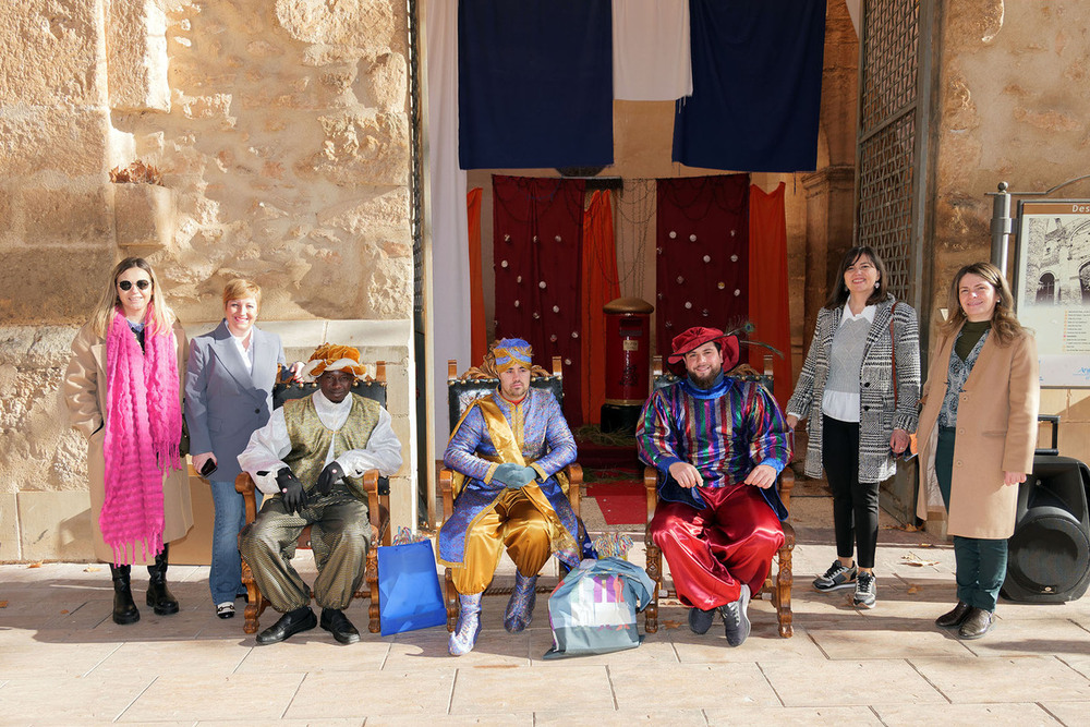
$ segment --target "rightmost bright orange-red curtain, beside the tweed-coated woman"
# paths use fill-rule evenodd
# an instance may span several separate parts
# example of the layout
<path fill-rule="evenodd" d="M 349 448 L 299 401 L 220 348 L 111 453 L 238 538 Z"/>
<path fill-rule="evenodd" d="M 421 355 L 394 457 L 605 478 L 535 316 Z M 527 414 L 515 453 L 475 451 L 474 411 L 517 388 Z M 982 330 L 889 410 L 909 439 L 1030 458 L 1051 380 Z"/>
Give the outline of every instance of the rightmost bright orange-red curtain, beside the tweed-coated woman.
<path fill-rule="evenodd" d="M 752 338 L 773 346 L 784 358 L 773 356 L 775 396 L 780 408 L 791 396 L 791 323 L 787 307 L 787 221 L 784 183 L 772 194 L 750 186 L 750 322 Z M 764 371 L 767 349 L 750 347 L 750 365 Z"/>

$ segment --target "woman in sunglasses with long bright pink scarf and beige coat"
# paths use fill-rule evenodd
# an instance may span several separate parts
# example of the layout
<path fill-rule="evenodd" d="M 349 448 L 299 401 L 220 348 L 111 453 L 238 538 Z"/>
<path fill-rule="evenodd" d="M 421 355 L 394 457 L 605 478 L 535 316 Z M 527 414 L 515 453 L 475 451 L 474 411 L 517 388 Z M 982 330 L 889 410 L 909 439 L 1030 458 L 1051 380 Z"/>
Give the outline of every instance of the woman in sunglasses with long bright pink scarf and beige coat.
<path fill-rule="evenodd" d="M 167 545 L 193 525 L 181 439 L 185 334 L 143 258 L 113 268 L 90 320 L 72 341 L 64 397 L 87 437 L 95 555 L 110 564 L 113 620 L 134 623 L 130 571 L 147 565 L 147 605 L 178 613 Z"/>

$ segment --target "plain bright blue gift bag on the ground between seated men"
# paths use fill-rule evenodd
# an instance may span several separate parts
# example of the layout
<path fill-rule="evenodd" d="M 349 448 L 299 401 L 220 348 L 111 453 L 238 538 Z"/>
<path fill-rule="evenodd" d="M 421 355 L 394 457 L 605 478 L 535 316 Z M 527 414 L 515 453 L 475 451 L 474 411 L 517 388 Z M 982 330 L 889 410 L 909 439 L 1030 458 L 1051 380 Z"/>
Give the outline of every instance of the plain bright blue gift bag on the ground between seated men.
<path fill-rule="evenodd" d="M 378 548 L 378 615 L 384 637 L 447 622 L 431 541 Z"/>

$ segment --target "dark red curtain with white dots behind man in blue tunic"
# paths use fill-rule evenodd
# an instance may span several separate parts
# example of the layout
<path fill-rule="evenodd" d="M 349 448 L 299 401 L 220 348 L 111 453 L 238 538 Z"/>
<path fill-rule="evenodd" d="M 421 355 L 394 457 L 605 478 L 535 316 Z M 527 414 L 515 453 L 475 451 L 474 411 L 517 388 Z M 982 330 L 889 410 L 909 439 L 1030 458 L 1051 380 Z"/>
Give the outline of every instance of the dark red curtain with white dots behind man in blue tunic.
<path fill-rule="evenodd" d="M 583 180 L 494 175 L 496 337 L 519 337 L 534 362 L 564 362 L 564 414 L 583 423 L 580 264 Z"/>

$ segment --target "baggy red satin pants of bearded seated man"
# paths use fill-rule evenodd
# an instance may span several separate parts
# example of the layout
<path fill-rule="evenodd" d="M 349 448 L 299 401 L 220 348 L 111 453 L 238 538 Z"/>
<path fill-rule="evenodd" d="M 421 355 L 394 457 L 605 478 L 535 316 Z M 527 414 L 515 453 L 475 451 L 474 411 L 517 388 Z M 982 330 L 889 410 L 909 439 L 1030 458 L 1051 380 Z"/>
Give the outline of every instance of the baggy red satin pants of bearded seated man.
<path fill-rule="evenodd" d="M 758 593 L 784 544 L 779 519 L 752 485 L 699 487 L 698 510 L 658 500 L 651 536 L 666 556 L 678 597 L 708 610 L 737 601 L 741 584 Z"/>

